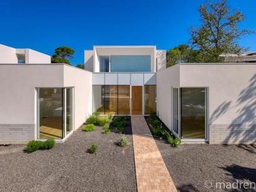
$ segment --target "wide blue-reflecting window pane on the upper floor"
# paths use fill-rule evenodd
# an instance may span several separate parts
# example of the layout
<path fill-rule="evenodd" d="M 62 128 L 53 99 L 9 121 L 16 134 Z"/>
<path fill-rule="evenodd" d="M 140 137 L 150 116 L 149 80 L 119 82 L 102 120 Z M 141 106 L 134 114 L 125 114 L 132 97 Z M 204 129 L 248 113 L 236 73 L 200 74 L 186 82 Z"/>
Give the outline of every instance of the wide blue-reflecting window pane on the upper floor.
<path fill-rule="evenodd" d="M 150 72 L 150 55 L 111 55 L 111 72 Z"/>

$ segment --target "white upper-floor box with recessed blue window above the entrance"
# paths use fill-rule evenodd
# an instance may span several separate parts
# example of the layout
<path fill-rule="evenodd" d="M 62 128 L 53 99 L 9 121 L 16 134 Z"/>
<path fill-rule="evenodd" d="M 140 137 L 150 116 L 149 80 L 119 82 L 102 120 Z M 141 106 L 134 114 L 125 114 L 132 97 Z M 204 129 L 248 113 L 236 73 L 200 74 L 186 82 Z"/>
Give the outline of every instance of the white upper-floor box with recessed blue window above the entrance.
<path fill-rule="evenodd" d="M 85 50 L 85 70 L 95 73 L 155 73 L 165 69 L 166 51 L 156 46 L 94 46 Z"/>

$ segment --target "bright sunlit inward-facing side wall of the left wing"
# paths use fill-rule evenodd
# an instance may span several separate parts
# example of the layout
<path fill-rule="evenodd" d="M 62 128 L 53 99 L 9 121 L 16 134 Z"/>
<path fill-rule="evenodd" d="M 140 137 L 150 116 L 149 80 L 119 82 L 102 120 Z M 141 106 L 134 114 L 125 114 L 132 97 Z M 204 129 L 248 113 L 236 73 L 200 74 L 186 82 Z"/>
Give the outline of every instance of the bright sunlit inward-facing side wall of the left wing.
<path fill-rule="evenodd" d="M 75 129 L 78 129 L 92 111 L 92 73 L 64 66 L 64 86 L 74 87 Z"/>

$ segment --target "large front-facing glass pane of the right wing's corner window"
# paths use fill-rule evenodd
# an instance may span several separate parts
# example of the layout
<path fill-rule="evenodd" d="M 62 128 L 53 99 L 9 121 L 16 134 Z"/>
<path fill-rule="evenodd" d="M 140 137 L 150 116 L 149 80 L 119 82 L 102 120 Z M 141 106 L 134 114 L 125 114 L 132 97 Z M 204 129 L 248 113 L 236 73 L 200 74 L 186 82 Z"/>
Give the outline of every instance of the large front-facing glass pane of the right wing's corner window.
<path fill-rule="evenodd" d="M 181 138 L 206 139 L 206 88 L 181 88 Z"/>

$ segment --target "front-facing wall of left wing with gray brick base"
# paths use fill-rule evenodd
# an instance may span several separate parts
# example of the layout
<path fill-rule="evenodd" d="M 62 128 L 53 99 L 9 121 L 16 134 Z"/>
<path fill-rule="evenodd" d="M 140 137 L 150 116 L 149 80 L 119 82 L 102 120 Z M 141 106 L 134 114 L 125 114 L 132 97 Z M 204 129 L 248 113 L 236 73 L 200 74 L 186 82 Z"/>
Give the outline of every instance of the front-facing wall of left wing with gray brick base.
<path fill-rule="evenodd" d="M 35 87 L 63 87 L 63 65 L 0 65 L 0 143 L 35 139 Z"/>

